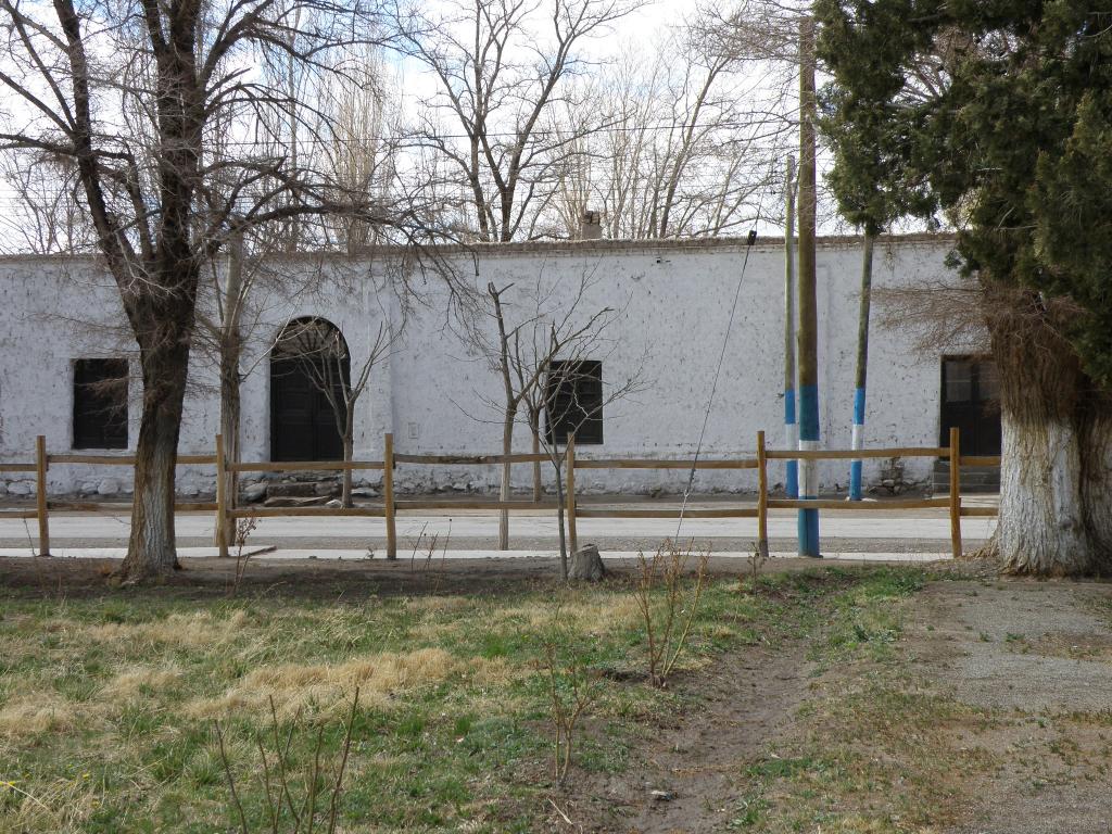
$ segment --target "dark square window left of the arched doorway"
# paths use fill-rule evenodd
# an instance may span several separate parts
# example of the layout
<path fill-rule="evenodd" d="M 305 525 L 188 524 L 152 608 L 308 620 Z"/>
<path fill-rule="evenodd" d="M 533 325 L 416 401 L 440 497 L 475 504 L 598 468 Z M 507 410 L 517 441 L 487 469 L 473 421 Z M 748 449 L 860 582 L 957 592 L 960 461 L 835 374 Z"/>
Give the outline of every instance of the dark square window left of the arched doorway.
<path fill-rule="evenodd" d="M 73 363 L 73 448 L 128 447 L 128 360 Z"/>

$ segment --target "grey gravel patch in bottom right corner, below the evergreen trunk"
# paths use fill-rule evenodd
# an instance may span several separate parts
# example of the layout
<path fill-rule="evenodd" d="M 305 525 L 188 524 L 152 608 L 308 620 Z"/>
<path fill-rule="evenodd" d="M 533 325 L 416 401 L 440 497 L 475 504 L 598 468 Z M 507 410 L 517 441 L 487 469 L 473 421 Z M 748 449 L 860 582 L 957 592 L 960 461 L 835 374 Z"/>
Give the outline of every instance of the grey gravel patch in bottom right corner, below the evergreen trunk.
<path fill-rule="evenodd" d="M 1112 586 L 936 583 L 913 612 L 923 671 L 994 718 L 953 739 L 999 766 L 952 834 L 1112 830 Z"/>

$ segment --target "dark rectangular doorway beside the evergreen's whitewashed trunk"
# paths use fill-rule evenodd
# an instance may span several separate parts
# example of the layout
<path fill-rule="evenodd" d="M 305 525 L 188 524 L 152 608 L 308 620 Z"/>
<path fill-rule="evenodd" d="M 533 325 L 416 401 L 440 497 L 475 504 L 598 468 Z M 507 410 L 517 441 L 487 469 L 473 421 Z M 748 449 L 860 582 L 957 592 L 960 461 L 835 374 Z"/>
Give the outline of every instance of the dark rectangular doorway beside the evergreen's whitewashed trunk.
<path fill-rule="evenodd" d="M 963 454 L 1000 454 L 1000 386 L 991 360 L 973 356 L 942 360 L 940 446 L 950 445 L 953 426 L 961 430 Z"/>

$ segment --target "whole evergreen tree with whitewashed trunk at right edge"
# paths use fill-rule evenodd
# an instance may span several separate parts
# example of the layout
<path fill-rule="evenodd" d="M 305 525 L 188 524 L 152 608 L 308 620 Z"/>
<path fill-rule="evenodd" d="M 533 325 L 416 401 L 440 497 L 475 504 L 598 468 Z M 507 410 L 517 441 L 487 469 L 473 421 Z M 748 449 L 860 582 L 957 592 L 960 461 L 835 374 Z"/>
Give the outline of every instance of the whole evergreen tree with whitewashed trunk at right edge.
<path fill-rule="evenodd" d="M 944 215 L 980 282 L 1002 381 L 995 547 L 1017 573 L 1112 569 L 1112 2 L 815 11 L 843 202 L 876 183 Z"/>

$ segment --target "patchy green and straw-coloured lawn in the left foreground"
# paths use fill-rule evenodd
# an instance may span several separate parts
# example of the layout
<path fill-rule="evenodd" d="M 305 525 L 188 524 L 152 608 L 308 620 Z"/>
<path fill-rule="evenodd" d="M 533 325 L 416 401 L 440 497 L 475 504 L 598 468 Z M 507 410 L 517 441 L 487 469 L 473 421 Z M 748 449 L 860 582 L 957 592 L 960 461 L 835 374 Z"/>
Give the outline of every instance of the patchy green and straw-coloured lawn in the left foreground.
<path fill-rule="evenodd" d="M 697 674 L 724 651 L 818 639 L 832 609 L 838 626 L 824 653 L 885 646 L 898 623 L 876 606 L 921 582 L 916 572 L 825 567 L 766 576 L 757 588 L 714 580 L 681 667 Z M 271 704 L 289 759 L 304 768 L 319 737 L 327 771 L 356 686 L 342 830 L 536 831 L 550 790 L 549 702 L 537 664 L 557 615 L 562 632 L 588 647 L 600 687 L 578 768 L 624 770 L 655 718 L 691 706 L 620 674 L 643 669 L 645 652 L 620 585 L 335 604 L 198 602 L 165 590 L 0 602 L 3 832 L 237 828 L 216 722 L 258 825 Z M 770 759 L 753 777 L 798 778 L 820 764 Z M 754 802 L 739 818 L 763 815 L 765 800 Z"/>

